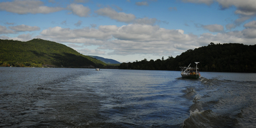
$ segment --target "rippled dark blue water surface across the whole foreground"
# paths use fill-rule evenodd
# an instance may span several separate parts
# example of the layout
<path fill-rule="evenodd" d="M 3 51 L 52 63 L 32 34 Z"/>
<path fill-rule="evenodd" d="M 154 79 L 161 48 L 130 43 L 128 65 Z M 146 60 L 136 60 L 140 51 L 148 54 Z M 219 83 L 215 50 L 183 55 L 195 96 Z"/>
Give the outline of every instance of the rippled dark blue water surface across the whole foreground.
<path fill-rule="evenodd" d="M 2 128 L 254 128 L 256 73 L 0 67 Z"/>

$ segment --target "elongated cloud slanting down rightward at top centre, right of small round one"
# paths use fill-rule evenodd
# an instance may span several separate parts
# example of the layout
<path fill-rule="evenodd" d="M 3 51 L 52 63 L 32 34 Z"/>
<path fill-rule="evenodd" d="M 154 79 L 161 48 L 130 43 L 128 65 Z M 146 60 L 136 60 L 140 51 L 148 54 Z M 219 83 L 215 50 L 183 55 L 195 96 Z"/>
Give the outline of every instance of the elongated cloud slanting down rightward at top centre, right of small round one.
<path fill-rule="evenodd" d="M 110 7 L 106 7 L 103 9 L 99 9 L 95 11 L 96 14 L 110 17 L 113 20 L 117 20 L 119 22 L 130 23 L 136 17 L 133 14 L 126 14 L 124 12 L 116 12 L 114 9 Z"/>

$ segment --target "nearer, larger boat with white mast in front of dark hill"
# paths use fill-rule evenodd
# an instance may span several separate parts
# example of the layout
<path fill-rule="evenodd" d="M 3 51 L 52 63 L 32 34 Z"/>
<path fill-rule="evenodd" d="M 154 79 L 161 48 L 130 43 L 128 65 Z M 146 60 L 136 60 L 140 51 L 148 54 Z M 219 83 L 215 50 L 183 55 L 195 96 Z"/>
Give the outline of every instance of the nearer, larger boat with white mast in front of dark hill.
<path fill-rule="evenodd" d="M 187 78 L 187 79 L 198 79 L 201 75 L 198 71 L 198 68 L 197 68 L 197 64 L 199 62 L 195 62 L 196 64 L 196 67 L 193 68 L 193 67 L 180 67 L 180 70 L 181 70 L 181 76 L 182 78 Z"/>

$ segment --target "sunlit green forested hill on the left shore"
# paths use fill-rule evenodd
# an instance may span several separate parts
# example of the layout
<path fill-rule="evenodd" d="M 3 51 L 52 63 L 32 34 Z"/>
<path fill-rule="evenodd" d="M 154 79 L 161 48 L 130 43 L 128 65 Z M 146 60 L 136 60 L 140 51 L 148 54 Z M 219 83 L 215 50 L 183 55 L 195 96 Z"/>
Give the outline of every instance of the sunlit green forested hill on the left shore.
<path fill-rule="evenodd" d="M 52 41 L 0 40 L 0 66 L 15 67 L 104 67 L 106 64 Z"/>

